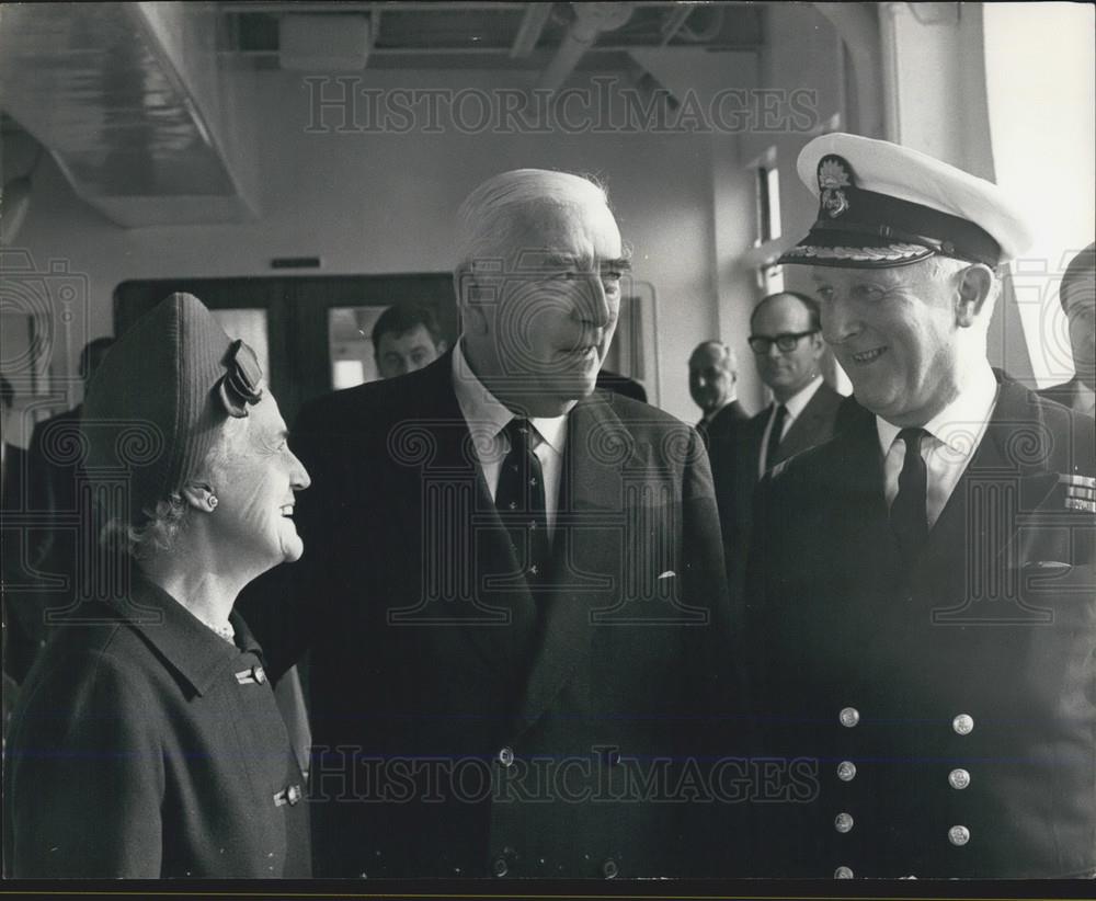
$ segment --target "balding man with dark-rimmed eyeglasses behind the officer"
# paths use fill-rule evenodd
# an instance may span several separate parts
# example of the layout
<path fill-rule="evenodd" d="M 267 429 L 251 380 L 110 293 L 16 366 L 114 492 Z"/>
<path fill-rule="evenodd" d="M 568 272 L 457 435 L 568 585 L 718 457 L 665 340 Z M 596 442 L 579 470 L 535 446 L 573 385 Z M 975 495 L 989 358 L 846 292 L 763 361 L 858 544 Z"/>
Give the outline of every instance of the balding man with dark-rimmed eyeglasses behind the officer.
<path fill-rule="evenodd" d="M 822 378 L 825 345 L 812 297 L 780 292 L 763 298 L 750 318 L 749 343 L 773 402 L 739 430 L 733 479 L 716 480 L 732 592 L 745 572 L 758 479 L 781 460 L 829 441 L 843 400 Z"/>

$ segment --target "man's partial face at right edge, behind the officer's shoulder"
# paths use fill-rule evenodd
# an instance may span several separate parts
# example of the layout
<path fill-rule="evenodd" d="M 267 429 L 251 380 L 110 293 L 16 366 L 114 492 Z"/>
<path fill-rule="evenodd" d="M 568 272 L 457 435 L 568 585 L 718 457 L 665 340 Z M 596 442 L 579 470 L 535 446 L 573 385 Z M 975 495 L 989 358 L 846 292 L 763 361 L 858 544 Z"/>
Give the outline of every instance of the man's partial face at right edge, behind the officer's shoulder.
<path fill-rule="evenodd" d="M 1070 322 L 1074 376 L 1039 394 L 1075 413 L 1096 411 L 1096 244 L 1088 244 L 1070 261 L 1058 299 Z"/>

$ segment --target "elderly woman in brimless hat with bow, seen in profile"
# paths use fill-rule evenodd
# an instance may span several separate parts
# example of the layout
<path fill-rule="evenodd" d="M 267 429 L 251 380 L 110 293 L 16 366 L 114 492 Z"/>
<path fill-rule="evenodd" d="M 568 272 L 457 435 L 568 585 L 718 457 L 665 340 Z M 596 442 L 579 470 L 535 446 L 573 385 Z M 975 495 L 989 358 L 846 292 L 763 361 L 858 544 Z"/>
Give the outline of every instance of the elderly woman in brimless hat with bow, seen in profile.
<path fill-rule="evenodd" d="M 175 294 L 90 386 L 87 471 L 123 562 L 92 572 L 14 714 L 4 774 L 12 877 L 308 875 L 302 779 L 233 613 L 300 557 L 286 445 L 254 353 Z"/>

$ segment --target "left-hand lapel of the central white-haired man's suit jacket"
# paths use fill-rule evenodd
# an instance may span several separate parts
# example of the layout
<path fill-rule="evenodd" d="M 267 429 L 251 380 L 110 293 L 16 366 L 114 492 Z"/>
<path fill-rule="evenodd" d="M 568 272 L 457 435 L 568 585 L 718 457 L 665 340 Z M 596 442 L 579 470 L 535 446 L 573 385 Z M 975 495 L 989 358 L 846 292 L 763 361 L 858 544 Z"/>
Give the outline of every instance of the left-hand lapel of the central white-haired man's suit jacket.
<path fill-rule="evenodd" d="M 528 652 L 536 605 L 525 579 L 512 575 L 517 559 L 453 389 L 452 354 L 425 370 L 422 406 L 388 436 L 395 453 L 410 450 L 393 467 L 391 509 L 409 546 L 420 549 L 422 571 L 419 603 L 389 619 L 437 626 L 436 640 L 459 635 L 509 677 Z"/>

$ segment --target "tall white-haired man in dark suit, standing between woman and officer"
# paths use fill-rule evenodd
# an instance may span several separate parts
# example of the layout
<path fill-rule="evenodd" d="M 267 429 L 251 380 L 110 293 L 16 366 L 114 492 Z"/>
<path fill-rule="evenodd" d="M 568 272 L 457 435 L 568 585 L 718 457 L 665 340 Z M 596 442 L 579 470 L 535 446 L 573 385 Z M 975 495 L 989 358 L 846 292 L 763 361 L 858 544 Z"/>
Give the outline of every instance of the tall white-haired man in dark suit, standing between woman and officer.
<path fill-rule="evenodd" d="M 506 172 L 460 235 L 454 350 L 295 432 L 317 873 L 723 866 L 715 805 L 678 790 L 739 699 L 711 477 L 693 429 L 594 391 L 628 269 L 606 195 Z M 275 669 L 292 643 L 264 636 Z"/>

